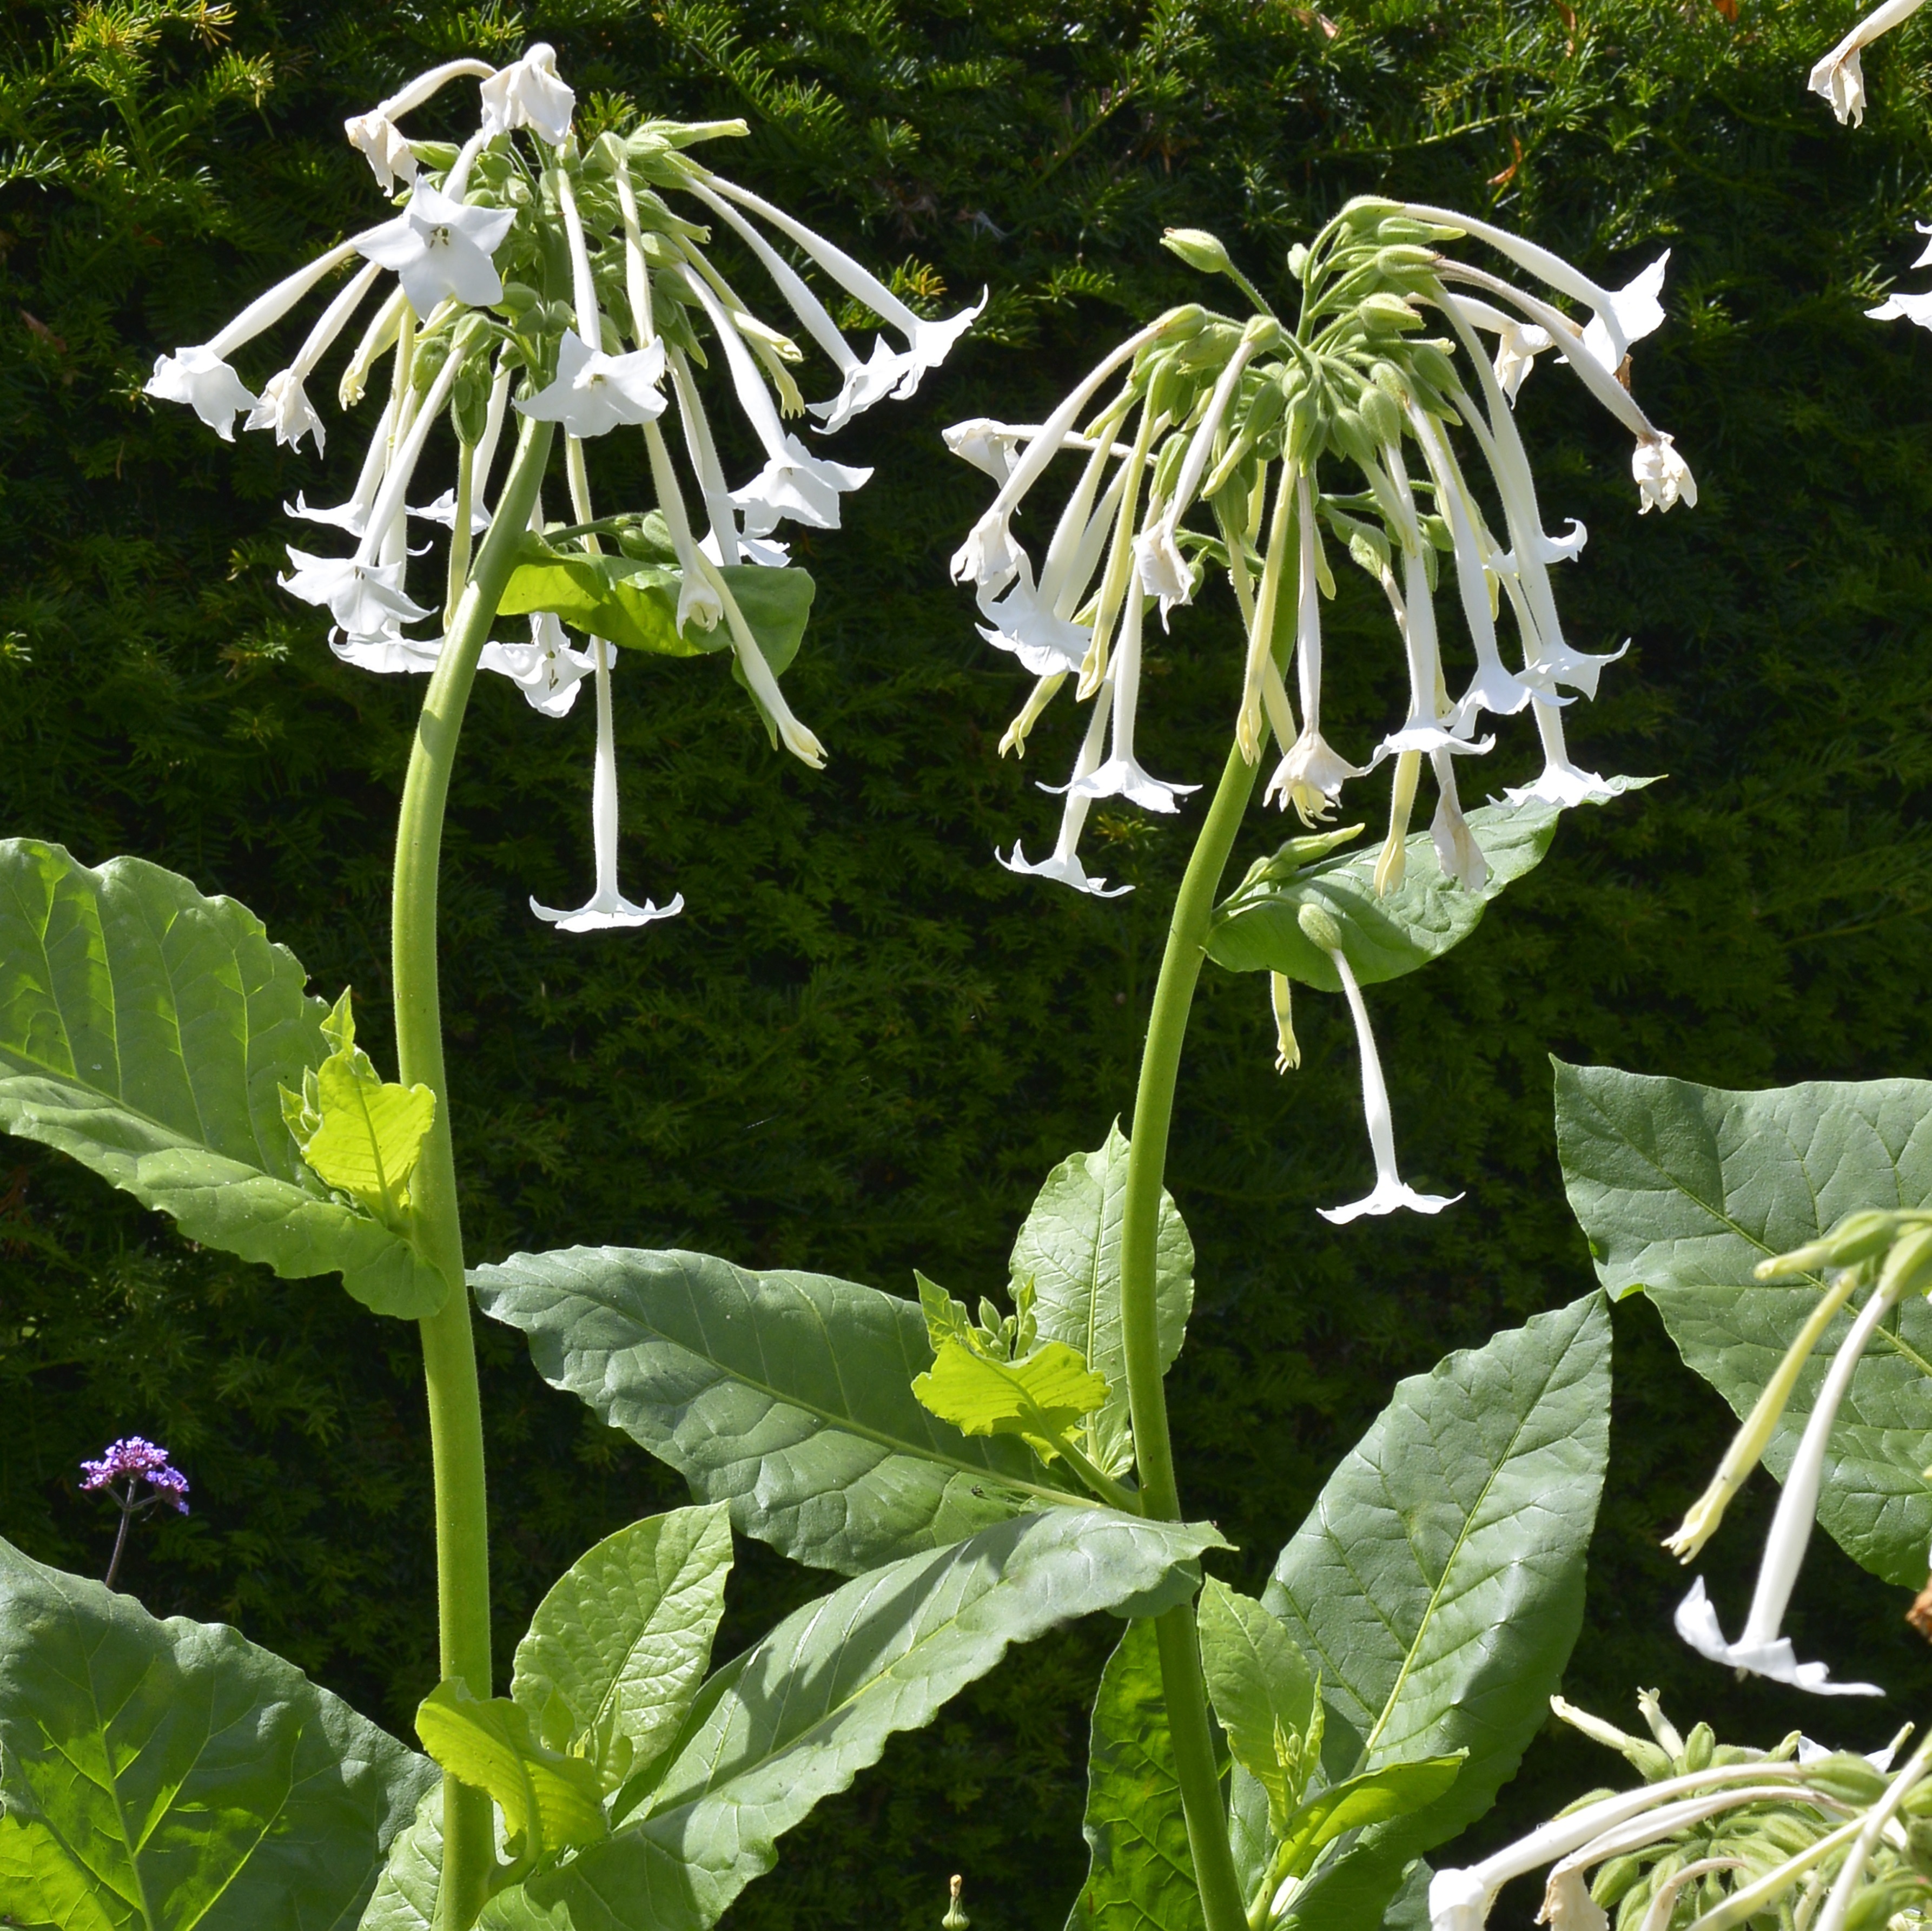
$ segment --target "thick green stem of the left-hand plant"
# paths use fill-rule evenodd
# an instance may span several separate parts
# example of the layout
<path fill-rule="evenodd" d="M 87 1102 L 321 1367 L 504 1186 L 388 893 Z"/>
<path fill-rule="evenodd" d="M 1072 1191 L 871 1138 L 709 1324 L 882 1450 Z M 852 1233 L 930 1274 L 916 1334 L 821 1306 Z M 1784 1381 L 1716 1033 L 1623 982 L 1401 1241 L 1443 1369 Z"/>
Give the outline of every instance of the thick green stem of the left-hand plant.
<path fill-rule="evenodd" d="M 469 586 L 456 605 L 423 698 L 396 820 L 396 883 L 390 957 L 396 982 L 396 1069 L 406 1086 L 437 1096 L 437 1119 L 423 1142 L 410 1196 L 417 1249 L 448 1282 L 442 1311 L 421 1322 L 423 1384 L 437 1488 L 437 1639 L 444 1678 L 477 1697 L 491 1693 L 489 1508 L 483 1488 L 483 1403 L 469 1334 L 464 1229 L 456 1210 L 456 1154 L 450 1138 L 448 1079 L 442 1069 L 442 1005 L 437 990 L 437 870 L 442 812 L 456 765 L 477 657 L 489 642 L 516 549 L 537 501 L 551 454 L 551 423 L 526 421 L 516 460 L 497 503 Z M 442 1888 L 437 1931 L 468 1931 L 483 1908 L 497 1861 L 491 1803 L 481 1790 L 446 1778 L 442 1786 Z"/>

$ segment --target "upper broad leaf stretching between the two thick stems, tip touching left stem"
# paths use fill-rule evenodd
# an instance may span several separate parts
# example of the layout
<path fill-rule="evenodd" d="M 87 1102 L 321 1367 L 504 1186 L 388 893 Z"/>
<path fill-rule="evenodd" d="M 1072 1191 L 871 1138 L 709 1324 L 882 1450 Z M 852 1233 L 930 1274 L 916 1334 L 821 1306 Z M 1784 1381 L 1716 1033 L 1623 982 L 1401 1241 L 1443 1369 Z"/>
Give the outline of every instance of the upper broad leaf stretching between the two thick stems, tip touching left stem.
<path fill-rule="evenodd" d="M 852 1575 L 1066 1500 L 1012 1436 L 968 1440 L 914 1399 L 933 1363 L 914 1301 L 628 1247 L 512 1254 L 471 1280 L 547 1382 L 798 1562 Z"/>

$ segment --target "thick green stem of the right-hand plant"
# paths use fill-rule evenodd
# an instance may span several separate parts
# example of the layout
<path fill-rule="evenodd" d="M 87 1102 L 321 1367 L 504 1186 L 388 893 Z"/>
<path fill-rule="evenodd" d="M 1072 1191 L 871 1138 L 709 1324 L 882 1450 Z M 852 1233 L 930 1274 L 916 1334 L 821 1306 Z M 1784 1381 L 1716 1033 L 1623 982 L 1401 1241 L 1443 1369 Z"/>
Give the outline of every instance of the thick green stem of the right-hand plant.
<path fill-rule="evenodd" d="M 1140 1469 L 1142 1506 L 1150 1515 L 1180 1519 L 1175 1483 L 1175 1448 L 1167 1432 L 1167 1396 L 1161 1388 L 1159 1328 L 1153 1305 L 1153 1245 L 1167 1175 L 1167 1137 L 1175 1117 L 1175 1081 L 1180 1048 L 1194 1005 L 1194 984 L 1206 959 L 1208 920 L 1213 914 L 1221 874 L 1227 870 L 1242 814 L 1254 796 L 1260 764 L 1248 764 L 1235 744 L 1215 787 L 1208 821 L 1188 858 L 1167 928 L 1167 951 L 1148 1015 L 1148 1044 L 1140 1057 L 1140 1090 L 1134 1094 L 1134 1133 L 1126 1156 L 1126 1198 L 1121 1210 L 1121 1338 L 1126 1353 L 1126 1399 L 1134 1417 L 1134 1459 Z M 1208 1931 L 1246 1931 L 1248 1914 L 1235 1875 L 1227 1836 L 1227 1807 L 1215 1774 L 1213 1736 L 1208 1724 L 1208 1687 L 1202 1682 L 1200 1639 L 1194 1608 L 1182 1602 L 1159 1618 L 1161 1693 L 1175 1740 L 1175 1772 L 1188 1819 L 1188 1848 L 1202 1892 Z"/>

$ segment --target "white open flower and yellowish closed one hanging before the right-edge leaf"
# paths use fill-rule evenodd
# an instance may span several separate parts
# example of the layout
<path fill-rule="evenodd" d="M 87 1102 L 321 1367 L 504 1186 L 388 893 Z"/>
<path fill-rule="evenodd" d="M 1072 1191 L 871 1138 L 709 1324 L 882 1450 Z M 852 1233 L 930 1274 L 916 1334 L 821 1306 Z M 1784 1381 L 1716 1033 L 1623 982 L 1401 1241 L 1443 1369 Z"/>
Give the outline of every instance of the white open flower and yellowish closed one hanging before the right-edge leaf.
<path fill-rule="evenodd" d="M 1826 1664 L 1799 1662 L 1791 1639 L 1779 1629 L 1785 1608 L 1791 1604 L 1799 1570 L 1804 1564 L 1804 1550 L 1810 1544 L 1812 1523 L 1818 1515 L 1818 1492 L 1824 1484 L 1826 1450 L 1839 1407 L 1851 1390 L 1851 1378 L 1864 1359 L 1864 1349 L 1878 1324 L 1899 1301 L 1909 1293 L 1932 1293 L 1932 1212 L 1874 1210 L 1851 1214 L 1810 1247 L 1762 1262 L 1758 1280 L 1810 1274 L 1818 1268 L 1833 1270 L 1818 1307 L 1785 1349 L 1777 1370 L 1764 1384 L 1710 1486 L 1663 1546 L 1683 1562 L 1690 1562 L 1718 1533 L 1731 1496 L 1764 1455 L 1804 1365 L 1851 1299 L 1868 1287 L 1870 1297 L 1832 1355 L 1818 1399 L 1804 1423 L 1804 1434 L 1791 1457 L 1791 1469 L 1777 1496 L 1777 1512 L 1772 1515 L 1772 1531 L 1764 1542 L 1758 1585 L 1750 1597 L 1743 1633 L 1735 1643 L 1725 1641 L 1723 1629 L 1718 1626 L 1718 1612 L 1704 1591 L 1702 1575 L 1677 1604 L 1677 1633 L 1712 1662 L 1723 1662 L 1735 1670 L 1768 1676 L 1797 1689 L 1810 1689 L 1814 1695 L 1878 1697 L 1884 1695 L 1878 1684 L 1833 1684 Z"/>

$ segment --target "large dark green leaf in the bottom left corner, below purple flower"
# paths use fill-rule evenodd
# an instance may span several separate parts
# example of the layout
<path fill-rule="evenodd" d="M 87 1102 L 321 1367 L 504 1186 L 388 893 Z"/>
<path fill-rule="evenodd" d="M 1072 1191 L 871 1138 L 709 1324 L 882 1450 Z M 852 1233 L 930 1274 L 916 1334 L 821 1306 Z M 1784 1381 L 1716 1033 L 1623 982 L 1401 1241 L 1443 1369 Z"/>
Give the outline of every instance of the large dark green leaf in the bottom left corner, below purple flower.
<path fill-rule="evenodd" d="M 332 1931 L 437 1767 L 222 1624 L 0 1542 L 0 1912 Z"/>

